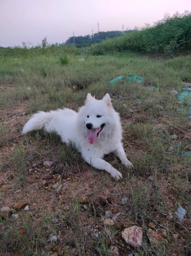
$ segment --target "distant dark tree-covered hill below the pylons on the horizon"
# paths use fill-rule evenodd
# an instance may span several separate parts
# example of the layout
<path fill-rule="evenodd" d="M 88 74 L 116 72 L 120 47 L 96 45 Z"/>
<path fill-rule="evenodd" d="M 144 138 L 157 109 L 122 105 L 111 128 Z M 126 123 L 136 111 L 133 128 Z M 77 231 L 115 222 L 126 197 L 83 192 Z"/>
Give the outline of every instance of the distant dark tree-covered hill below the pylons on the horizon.
<path fill-rule="evenodd" d="M 133 30 L 124 31 L 124 34 L 128 34 Z M 91 44 L 91 43 L 100 43 L 102 40 L 105 40 L 106 38 L 113 38 L 113 37 L 120 37 L 122 36 L 122 31 L 107 31 L 107 32 L 99 32 L 93 35 L 86 35 L 86 36 L 78 36 L 78 37 L 69 37 L 65 44 L 71 44 L 73 43 L 75 45 L 81 45 L 81 44 Z"/>

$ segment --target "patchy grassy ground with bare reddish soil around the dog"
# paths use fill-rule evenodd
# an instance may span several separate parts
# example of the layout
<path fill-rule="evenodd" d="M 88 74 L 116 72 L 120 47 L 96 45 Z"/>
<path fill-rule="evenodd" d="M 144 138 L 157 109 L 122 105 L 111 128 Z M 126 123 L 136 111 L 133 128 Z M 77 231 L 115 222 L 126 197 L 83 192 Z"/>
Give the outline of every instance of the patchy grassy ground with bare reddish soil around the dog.
<path fill-rule="evenodd" d="M 1 168 L 1 184 L 7 175 L 14 175 L 13 180 L 2 185 L 0 204 L 12 206 L 16 200 L 27 200 L 30 210 L 21 211 L 14 221 L 1 219 L 1 251 L 44 255 L 50 249 L 58 255 L 60 251 L 64 255 L 110 255 L 110 245 L 115 245 L 122 255 L 132 251 L 138 255 L 187 255 L 191 242 L 191 159 L 181 152 L 190 152 L 190 120 L 177 111 L 180 106 L 171 91 L 181 91 L 185 78 L 190 82 L 191 56 L 163 60 L 135 52 L 91 56 L 76 50 L 64 52 L 59 47 L 52 51 L 10 50 L 12 53 L 3 57 L 0 71 L 0 117 L 11 126 L 10 131 L 7 124 L 0 125 L 1 159 L 8 165 Z M 70 62 L 62 65 L 60 56 L 67 56 Z M 80 58 L 85 59 L 84 65 L 78 61 Z M 127 84 L 124 79 L 109 85 L 114 77 L 129 73 L 142 76 L 144 83 Z M 106 156 L 106 161 L 122 172 L 122 181 L 114 181 L 109 174 L 84 163 L 75 146 L 66 146 L 54 132 L 35 131 L 20 136 L 15 131 L 27 121 L 26 116 L 19 117 L 17 108 L 26 106 L 30 115 L 62 107 L 77 110 L 88 92 L 98 98 L 110 93 L 121 116 L 124 148 L 135 168 L 127 170 L 112 154 Z M 9 116 L 15 108 L 15 116 Z M 177 135 L 175 139 L 173 134 Z M 26 160 L 29 156 L 33 156 L 31 162 Z M 45 168 L 44 160 L 53 161 L 54 166 Z M 49 171 L 54 173 L 50 180 Z M 149 176 L 153 181 L 147 180 Z M 41 186 L 41 180 L 47 181 L 49 192 Z M 60 193 L 52 189 L 57 182 L 63 186 Z M 13 191 L 4 188 L 13 184 Z M 100 192 L 107 191 L 112 193 L 113 203 L 103 205 L 101 216 L 97 216 L 94 203 Z M 128 198 L 124 206 L 123 196 Z M 82 202 L 86 197 L 88 201 Z M 39 203 L 38 209 L 33 207 L 34 202 Z M 173 217 L 179 204 L 188 212 L 183 222 Z M 123 228 L 143 228 L 142 248 L 126 244 L 116 225 L 103 225 L 105 211 L 114 216 L 115 208 L 121 212 L 117 222 Z M 58 222 L 52 222 L 53 216 Z M 155 224 L 155 231 L 167 233 L 161 244 L 151 245 L 148 241 L 150 222 Z M 21 229 L 24 234 L 19 233 Z M 51 234 L 59 235 L 59 241 L 50 243 Z M 175 240 L 174 234 L 181 234 L 181 239 Z"/>

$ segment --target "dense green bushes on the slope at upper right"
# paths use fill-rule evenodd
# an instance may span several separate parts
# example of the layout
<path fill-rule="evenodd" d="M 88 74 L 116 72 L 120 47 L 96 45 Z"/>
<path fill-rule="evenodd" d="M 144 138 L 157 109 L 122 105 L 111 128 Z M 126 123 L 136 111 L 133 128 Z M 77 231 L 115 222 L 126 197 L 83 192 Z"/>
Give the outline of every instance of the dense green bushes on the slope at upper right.
<path fill-rule="evenodd" d="M 92 55 L 104 52 L 135 50 L 147 54 L 171 56 L 191 50 L 191 15 L 169 18 L 165 22 L 122 37 L 90 46 Z"/>

